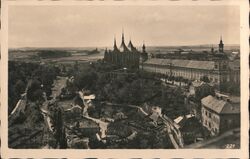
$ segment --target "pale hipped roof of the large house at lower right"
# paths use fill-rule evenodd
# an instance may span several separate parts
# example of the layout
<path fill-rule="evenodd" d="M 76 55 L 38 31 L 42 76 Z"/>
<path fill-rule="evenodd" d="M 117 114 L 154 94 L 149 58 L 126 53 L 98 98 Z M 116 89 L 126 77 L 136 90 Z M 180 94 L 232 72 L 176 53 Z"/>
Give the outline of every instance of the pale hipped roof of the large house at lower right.
<path fill-rule="evenodd" d="M 227 101 L 217 99 L 211 95 L 201 99 L 204 107 L 215 111 L 218 114 L 239 114 L 240 105 L 233 105 Z"/>

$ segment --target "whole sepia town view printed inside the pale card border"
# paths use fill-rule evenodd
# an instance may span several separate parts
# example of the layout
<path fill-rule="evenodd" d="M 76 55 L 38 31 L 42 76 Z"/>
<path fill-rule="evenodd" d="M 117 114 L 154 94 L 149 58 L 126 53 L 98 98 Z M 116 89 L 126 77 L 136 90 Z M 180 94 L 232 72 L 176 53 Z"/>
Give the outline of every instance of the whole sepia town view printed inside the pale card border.
<path fill-rule="evenodd" d="M 7 12 L 9 149 L 243 148 L 240 5 Z"/>

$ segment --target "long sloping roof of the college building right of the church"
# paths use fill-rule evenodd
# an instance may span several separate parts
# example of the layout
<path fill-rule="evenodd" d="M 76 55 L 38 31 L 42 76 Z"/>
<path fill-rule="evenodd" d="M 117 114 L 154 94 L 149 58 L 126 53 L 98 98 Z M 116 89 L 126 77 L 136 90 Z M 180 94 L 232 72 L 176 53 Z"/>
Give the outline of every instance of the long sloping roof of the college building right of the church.
<path fill-rule="evenodd" d="M 213 70 L 215 66 L 214 61 L 158 59 L 158 58 L 149 59 L 145 62 L 145 64 L 156 64 L 156 65 L 163 65 L 163 66 L 171 65 L 173 67 L 185 67 L 185 68 L 204 69 L 204 70 Z"/>

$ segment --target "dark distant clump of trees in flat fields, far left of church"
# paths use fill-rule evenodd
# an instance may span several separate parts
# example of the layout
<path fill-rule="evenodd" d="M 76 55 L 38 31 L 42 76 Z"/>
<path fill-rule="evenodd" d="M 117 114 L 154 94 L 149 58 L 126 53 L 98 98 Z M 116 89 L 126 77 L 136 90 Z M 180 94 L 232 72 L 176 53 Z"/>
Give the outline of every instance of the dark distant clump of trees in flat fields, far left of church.
<path fill-rule="evenodd" d="M 37 55 L 41 58 L 58 58 L 71 56 L 71 53 L 62 50 L 41 50 Z"/>

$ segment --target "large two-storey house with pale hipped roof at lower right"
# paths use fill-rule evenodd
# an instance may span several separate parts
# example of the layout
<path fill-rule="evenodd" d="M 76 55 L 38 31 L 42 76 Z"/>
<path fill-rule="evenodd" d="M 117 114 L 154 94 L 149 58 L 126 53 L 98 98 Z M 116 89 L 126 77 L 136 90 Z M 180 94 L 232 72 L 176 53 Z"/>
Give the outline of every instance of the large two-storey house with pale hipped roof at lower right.
<path fill-rule="evenodd" d="M 207 96 L 201 100 L 202 125 L 216 136 L 240 126 L 240 103 Z"/>

